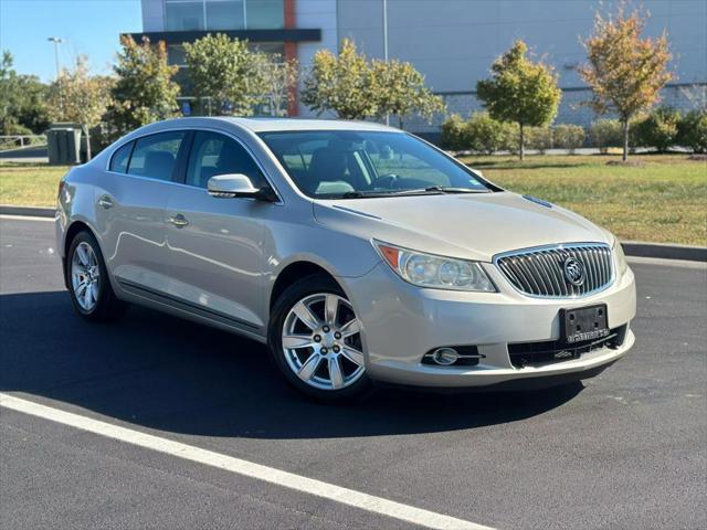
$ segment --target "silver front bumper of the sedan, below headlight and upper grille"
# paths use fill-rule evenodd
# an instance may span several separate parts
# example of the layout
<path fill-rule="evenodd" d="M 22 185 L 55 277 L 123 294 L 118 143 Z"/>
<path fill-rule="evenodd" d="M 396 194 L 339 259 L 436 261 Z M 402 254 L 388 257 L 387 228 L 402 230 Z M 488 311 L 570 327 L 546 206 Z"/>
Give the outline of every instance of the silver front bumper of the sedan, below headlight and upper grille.
<path fill-rule="evenodd" d="M 347 278 L 346 290 L 363 325 L 371 379 L 403 385 L 502 386 L 524 380 L 585 379 L 623 357 L 635 337 L 629 328 L 618 348 L 600 348 L 579 359 L 516 368 L 508 343 L 558 340 L 559 311 L 606 304 L 610 328 L 635 316 L 631 269 L 608 289 L 578 299 L 530 298 L 516 292 L 490 264 L 485 269 L 500 293 L 423 289 L 400 279 L 380 263 L 367 275 Z M 423 364 L 423 356 L 444 346 L 476 346 L 485 356 L 473 367 Z"/>

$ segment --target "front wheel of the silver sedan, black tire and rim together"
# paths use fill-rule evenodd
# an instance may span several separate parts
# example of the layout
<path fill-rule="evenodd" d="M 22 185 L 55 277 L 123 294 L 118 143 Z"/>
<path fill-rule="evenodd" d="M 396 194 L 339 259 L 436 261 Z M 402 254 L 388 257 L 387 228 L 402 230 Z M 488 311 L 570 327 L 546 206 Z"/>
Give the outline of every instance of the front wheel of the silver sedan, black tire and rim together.
<path fill-rule="evenodd" d="M 372 389 L 361 324 L 341 288 L 326 275 L 307 276 L 279 296 L 268 348 L 287 381 L 326 402 L 355 401 Z"/>

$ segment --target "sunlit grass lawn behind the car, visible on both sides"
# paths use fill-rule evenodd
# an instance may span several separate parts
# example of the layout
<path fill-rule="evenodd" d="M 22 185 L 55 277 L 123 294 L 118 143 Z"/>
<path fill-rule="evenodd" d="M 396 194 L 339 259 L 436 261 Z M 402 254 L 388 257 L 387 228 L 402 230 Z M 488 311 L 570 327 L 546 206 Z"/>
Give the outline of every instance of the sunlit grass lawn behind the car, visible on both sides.
<path fill-rule="evenodd" d="M 497 184 L 574 210 L 623 240 L 707 245 L 707 162 L 685 155 L 463 157 Z M 53 206 L 65 167 L 0 162 L 0 203 Z"/>

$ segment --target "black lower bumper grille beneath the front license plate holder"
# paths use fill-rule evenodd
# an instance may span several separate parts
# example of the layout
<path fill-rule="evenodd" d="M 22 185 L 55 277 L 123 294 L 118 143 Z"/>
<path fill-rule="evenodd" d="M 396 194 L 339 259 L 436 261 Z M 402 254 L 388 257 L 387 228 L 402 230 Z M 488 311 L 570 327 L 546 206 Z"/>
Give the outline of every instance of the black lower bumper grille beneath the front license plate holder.
<path fill-rule="evenodd" d="M 619 348 L 626 337 L 626 329 L 627 326 L 624 325 L 612 329 L 606 337 L 601 339 L 584 340 L 572 344 L 563 344 L 559 340 L 508 344 L 510 363 L 516 368 L 537 367 L 579 359 L 584 353 L 601 348 Z"/>

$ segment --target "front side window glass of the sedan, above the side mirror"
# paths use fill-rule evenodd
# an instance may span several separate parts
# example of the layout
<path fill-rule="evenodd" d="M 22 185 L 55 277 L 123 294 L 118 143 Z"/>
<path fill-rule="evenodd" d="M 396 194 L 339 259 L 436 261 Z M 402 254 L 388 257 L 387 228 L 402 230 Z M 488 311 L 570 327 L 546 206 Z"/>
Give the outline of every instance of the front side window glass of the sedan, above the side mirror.
<path fill-rule="evenodd" d="M 238 141 L 219 132 L 197 131 L 186 183 L 205 189 L 211 177 L 229 173 L 245 174 L 255 188 L 266 186 L 255 161 Z"/>

